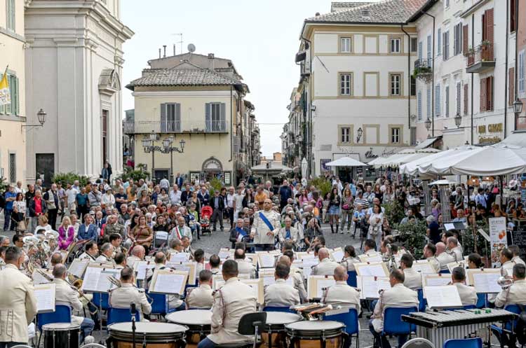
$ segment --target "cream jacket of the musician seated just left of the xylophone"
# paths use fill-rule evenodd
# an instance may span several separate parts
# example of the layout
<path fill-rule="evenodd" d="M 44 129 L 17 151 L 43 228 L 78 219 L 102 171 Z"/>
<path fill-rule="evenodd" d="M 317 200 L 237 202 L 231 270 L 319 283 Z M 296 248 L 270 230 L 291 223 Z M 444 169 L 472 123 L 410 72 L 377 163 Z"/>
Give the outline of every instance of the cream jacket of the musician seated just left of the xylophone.
<path fill-rule="evenodd" d="M 377 333 L 384 329 L 384 310 L 389 307 L 417 307 L 418 308 L 417 291 L 403 286 L 403 284 L 395 284 L 392 288 L 384 291 L 380 295 L 376 303 L 373 314 L 375 319 L 372 320 L 372 326 L 375 327 Z"/>

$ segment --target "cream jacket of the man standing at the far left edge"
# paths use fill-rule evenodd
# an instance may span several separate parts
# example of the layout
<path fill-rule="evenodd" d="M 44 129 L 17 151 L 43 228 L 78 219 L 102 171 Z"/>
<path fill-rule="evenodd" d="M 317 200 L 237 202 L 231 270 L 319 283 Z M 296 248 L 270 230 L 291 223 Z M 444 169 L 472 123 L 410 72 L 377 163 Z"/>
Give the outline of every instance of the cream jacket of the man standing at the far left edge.
<path fill-rule="evenodd" d="M 27 342 L 27 326 L 36 314 L 33 283 L 14 265 L 0 271 L 0 342 Z"/>

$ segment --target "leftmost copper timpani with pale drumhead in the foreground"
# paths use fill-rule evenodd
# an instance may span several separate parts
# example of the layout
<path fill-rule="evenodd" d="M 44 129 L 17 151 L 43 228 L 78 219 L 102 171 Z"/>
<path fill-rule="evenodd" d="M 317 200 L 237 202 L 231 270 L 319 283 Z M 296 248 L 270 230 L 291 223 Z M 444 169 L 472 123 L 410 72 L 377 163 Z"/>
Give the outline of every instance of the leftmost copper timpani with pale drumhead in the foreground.
<path fill-rule="evenodd" d="M 175 323 L 135 323 L 135 347 L 141 348 L 180 348 L 184 347 L 187 326 Z M 113 348 L 133 347 L 132 323 L 114 323 L 108 326 L 109 342 Z"/>

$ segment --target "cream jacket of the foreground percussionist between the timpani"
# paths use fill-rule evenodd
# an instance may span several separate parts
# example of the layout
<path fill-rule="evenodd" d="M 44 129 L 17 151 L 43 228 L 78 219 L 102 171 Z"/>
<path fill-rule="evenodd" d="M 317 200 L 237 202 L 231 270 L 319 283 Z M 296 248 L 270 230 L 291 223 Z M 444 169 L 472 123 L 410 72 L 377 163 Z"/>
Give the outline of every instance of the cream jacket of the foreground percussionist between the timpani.
<path fill-rule="evenodd" d="M 211 333 L 215 344 L 251 341 L 251 336 L 240 335 L 238 324 L 241 317 L 256 312 L 256 293 L 237 277 L 230 278 L 214 294 Z"/>

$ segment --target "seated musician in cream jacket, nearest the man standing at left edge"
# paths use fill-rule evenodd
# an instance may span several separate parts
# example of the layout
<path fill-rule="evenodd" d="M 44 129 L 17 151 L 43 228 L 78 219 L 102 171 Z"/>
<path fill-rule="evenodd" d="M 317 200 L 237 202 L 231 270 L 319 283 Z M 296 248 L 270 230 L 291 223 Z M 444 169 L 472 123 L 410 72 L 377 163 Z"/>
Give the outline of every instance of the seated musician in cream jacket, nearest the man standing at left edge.
<path fill-rule="evenodd" d="M 66 281 L 67 269 L 62 263 L 58 263 L 53 267 L 53 281 L 55 284 L 55 305 L 65 305 L 70 307 L 72 310 L 81 311 L 83 305 L 79 299 L 79 293 L 70 286 Z M 95 321 L 83 316 L 72 315 L 72 323 L 81 326 L 81 335 L 79 337 L 80 342 L 91 334 L 95 327 Z"/>

